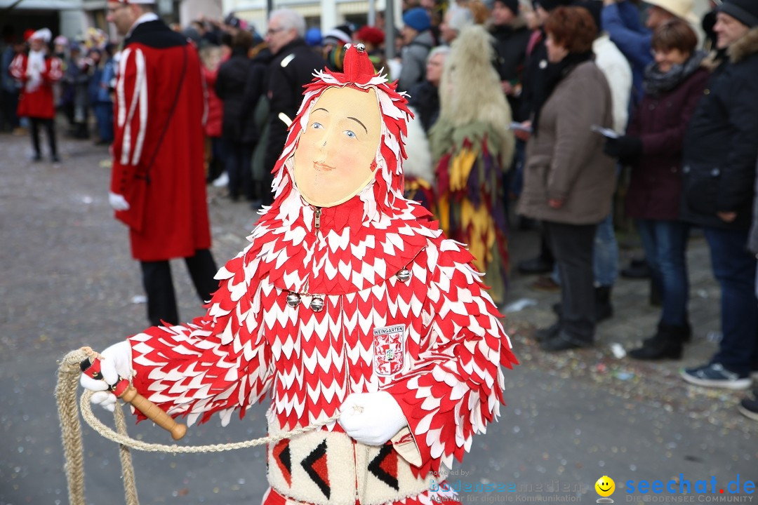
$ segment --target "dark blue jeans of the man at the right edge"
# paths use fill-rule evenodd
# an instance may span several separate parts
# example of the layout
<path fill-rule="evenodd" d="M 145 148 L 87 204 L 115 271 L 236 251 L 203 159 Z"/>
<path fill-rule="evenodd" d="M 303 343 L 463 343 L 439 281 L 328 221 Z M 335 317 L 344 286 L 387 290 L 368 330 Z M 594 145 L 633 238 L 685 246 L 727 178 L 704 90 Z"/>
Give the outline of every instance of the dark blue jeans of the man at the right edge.
<path fill-rule="evenodd" d="M 758 355 L 756 258 L 747 251 L 747 230 L 704 228 L 703 232 L 710 248 L 713 276 L 721 285 L 723 337 L 711 363 L 721 363 L 747 376 Z"/>

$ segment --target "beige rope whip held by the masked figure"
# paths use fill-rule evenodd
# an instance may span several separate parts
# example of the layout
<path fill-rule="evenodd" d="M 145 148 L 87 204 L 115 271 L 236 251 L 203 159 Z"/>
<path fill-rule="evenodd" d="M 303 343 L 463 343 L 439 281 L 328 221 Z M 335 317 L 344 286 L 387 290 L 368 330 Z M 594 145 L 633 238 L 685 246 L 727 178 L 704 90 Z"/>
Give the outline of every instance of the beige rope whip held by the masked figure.
<path fill-rule="evenodd" d="M 82 373 L 83 362 L 86 360 L 99 359 L 102 359 L 102 357 L 95 351 L 92 351 L 91 348 L 80 348 L 66 354 L 61 361 L 60 366 L 58 366 L 58 384 L 55 386 L 55 398 L 58 403 L 58 417 L 61 420 L 61 438 L 63 439 L 65 458 L 64 470 L 66 472 L 68 500 L 70 505 L 86 505 L 86 500 L 84 499 L 84 448 L 82 442 L 82 427 L 79 420 L 79 413 L 77 412 L 77 388 L 79 387 L 79 377 Z M 117 394 L 117 396 L 119 395 Z M 123 396 L 124 394 L 122 393 L 120 397 Z M 127 435 L 127 423 L 124 418 L 124 410 L 122 410 L 121 404 L 118 402 L 116 402 L 116 408 L 114 410 L 114 421 L 117 431 L 114 432 L 113 429 L 106 426 L 105 423 L 100 421 L 100 419 L 92 413 L 92 404 L 89 401 L 90 397 L 92 397 L 92 391 L 86 390 L 80 398 L 79 407 L 82 417 L 87 424 L 100 435 L 108 438 L 110 441 L 120 444 L 119 457 L 121 459 L 121 475 L 124 478 L 124 494 L 127 500 L 127 505 L 139 505 L 130 449 L 143 450 L 145 452 L 164 452 L 169 454 L 217 453 L 225 450 L 246 449 L 258 445 L 270 444 L 272 442 L 283 440 L 284 438 L 293 438 L 296 435 L 302 435 L 306 432 L 312 432 L 330 422 L 336 421 L 340 417 L 340 414 L 336 413 L 329 419 L 314 423 L 310 426 L 296 428 L 290 432 L 282 432 L 274 436 L 254 438 L 243 442 L 195 446 L 152 444 L 136 440 Z M 154 404 L 150 404 L 142 397 L 140 398 L 142 401 L 149 404 L 147 407 L 155 407 Z M 136 404 L 136 401 L 134 403 Z M 142 405 L 139 407 L 142 407 Z M 142 410 L 142 408 L 139 408 L 139 410 Z M 145 412 L 143 411 L 143 413 Z M 165 414 L 162 410 L 161 414 L 168 416 L 168 414 Z M 175 425 L 176 423 L 174 422 L 174 426 Z M 168 426 L 161 426 L 172 431 Z"/>

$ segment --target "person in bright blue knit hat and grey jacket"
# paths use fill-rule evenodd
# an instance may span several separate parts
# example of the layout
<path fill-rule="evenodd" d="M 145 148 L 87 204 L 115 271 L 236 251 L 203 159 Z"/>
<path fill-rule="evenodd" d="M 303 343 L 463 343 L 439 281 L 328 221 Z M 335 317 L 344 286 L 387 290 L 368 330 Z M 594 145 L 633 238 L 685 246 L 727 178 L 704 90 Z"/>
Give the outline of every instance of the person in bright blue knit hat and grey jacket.
<path fill-rule="evenodd" d="M 408 91 L 415 83 L 420 83 L 426 73 L 426 58 L 434 47 L 431 34 L 431 17 L 426 9 L 416 7 L 402 15 L 402 68 L 398 78 L 398 89 Z"/>

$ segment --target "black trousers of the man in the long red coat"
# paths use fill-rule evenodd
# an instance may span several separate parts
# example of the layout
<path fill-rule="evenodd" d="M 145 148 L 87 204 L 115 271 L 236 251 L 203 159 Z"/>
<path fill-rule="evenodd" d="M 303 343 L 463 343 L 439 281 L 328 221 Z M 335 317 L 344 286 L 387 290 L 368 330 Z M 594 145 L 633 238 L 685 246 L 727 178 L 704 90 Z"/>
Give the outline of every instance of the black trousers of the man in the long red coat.
<path fill-rule="evenodd" d="M 189 276 L 200 300 L 205 303 L 218 289 L 218 281 L 213 277 L 218 269 L 211 251 L 199 249 L 195 255 L 184 258 Z M 179 324 L 179 309 L 174 293 L 174 281 L 171 279 L 171 264 L 168 260 L 140 261 L 143 273 L 143 286 L 147 294 L 147 318 L 152 326 Z"/>

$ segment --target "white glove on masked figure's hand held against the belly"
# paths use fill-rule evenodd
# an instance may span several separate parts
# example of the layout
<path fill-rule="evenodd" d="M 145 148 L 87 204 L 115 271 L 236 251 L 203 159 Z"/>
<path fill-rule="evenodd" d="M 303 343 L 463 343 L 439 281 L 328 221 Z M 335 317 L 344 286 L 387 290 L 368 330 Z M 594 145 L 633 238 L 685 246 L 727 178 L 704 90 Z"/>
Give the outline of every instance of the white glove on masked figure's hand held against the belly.
<path fill-rule="evenodd" d="M 351 438 L 366 445 L 383 445 L 408 426 L 406 415 L 387 391 L 352 393 L 340 412 L 340 426 Z"/>

